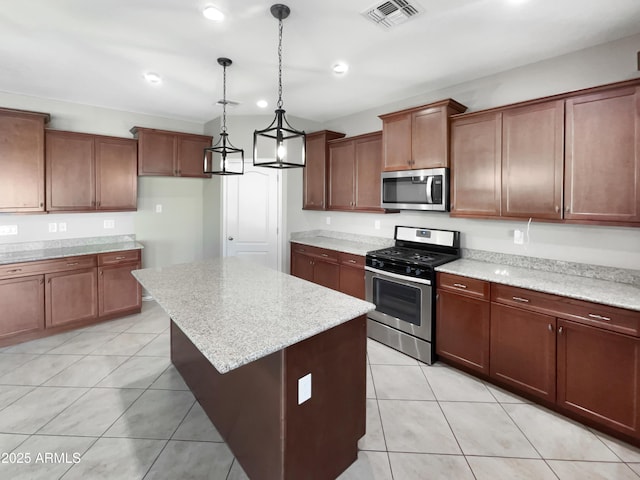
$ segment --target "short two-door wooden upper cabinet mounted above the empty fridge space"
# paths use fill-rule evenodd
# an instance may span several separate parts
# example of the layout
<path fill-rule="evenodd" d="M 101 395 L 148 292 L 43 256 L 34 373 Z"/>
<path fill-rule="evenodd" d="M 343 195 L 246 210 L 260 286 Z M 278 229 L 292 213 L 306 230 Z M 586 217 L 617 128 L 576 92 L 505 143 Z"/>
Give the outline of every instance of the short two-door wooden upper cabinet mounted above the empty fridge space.
<path fill-rule="evenodd" d="M 204 171 L 204 149 L 213 137 L 133 127 L 138 139 L 138 175 L 209 178 Z"/>

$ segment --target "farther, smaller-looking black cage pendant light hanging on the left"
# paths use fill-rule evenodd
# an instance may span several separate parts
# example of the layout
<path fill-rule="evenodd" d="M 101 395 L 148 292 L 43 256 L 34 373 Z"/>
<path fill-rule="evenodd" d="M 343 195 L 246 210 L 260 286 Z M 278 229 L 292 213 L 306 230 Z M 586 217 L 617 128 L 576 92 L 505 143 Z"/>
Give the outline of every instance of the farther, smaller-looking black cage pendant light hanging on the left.
<path fill-rule="evenodd" d="M 220 139 L 213 147 L 204 149 L 204 173 L 212 175 L 242 175 L 244 173 L 244 150 L 236 148 L 227 138 L 227 67 L 231 60 L 221 57 L 222 65 L 222 130 Z M 236 165 L 239 164 L 239 165 Z"/>

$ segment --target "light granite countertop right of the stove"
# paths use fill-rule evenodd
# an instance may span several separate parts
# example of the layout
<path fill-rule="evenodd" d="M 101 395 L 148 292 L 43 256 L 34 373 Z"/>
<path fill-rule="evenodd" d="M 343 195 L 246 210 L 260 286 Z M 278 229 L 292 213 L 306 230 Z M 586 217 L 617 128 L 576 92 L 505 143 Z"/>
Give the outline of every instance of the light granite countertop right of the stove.
<path fill-rule="evenodd" d="M 640 288 L 627 283 L 465 258 L 436 271 L 640 311 Z"/>

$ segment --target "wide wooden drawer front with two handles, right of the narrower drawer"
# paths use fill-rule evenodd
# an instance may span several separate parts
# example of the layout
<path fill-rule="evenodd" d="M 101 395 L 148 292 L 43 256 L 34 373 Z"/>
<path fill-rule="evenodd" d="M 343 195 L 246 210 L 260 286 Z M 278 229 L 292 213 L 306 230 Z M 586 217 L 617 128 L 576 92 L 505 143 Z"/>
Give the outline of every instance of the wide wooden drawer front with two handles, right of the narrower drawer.
<path fill-rule="evenodd" d="M 640 312 L 624 308 L 500 284 L 493 285 L 491 299 L 505 305 L 518 306 L 614 332 L 640 336 Z"/>

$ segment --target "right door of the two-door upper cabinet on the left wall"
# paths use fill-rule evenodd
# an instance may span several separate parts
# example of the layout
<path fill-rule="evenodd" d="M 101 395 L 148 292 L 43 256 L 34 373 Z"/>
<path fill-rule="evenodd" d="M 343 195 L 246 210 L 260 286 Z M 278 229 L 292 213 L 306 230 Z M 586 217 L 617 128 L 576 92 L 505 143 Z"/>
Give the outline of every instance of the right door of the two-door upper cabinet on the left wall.
<path fill-rule="evenodd" d="M 98 210 L 135 210 L 138 149 L 135 140 L 96 137 Z"/>

